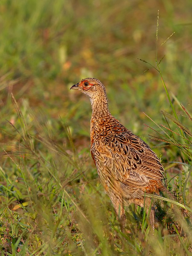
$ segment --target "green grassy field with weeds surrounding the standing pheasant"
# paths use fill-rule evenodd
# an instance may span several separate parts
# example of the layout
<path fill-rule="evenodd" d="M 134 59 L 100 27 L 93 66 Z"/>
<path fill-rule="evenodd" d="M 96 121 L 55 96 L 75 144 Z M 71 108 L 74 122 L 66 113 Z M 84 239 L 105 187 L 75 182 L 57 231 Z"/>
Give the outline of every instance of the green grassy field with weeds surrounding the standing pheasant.
<path fill-rule="evenodd" d="M 192 255 L 192 2 L 2 0 L 0 255 Z M 145 140 L 183 205 L 126 207 L 122 234 L 90 155 L 85 77 Z M 145 125 L 146 124 L 146 125 Z M 166 197 L 166 194 L 162 195 Z"/>

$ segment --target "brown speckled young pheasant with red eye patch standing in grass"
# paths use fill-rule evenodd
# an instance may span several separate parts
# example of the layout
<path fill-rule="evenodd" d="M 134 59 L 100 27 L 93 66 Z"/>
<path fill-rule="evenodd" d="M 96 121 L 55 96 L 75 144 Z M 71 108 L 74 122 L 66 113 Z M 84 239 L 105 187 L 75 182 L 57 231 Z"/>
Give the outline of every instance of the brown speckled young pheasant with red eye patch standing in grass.
<path fill-rule="evenodd" d="M 124 127 L 108 110 L 104 85 L 96 78 L 85 78 L 70 89 L 78 89 L 90 98 L 91 156 L 98 176 L 111 199 L 121 231 L 125 229 L 124 206 L 134 203 L 145 207 L 154 229 L 155 209 L 145 193 L 168 191 L 162 182 L 164 168 L 156 154 L 137 135 Z"/>

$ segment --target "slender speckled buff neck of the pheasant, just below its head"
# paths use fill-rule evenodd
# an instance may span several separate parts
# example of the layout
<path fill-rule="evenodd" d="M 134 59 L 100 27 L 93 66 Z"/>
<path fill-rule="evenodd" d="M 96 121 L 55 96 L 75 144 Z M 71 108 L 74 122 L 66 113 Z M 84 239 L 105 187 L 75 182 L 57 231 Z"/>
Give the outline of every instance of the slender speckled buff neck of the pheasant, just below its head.
<path fill-rule="evenodd" d="M 108 100 L 105 92 L 102 95 L 95 95 L 94 98 L 91 98 L 92 106 L 92 118 L 103 118 L 110 115 L 108 110 Z"/>

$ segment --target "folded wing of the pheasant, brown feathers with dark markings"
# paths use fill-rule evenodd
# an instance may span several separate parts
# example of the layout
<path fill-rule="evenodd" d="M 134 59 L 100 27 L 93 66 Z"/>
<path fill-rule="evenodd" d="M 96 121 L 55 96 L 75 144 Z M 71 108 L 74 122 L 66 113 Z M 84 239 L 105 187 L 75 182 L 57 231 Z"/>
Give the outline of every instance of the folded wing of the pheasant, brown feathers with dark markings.
<path fill-rule="evenodd" d="M 118 181 L 137 188 L 145 188 L 150 180 L 164 178 L 163 166 L 156 154 L 138 136 L 128 132 L 115 132 L 100 140 L 99 161 Z"/>

